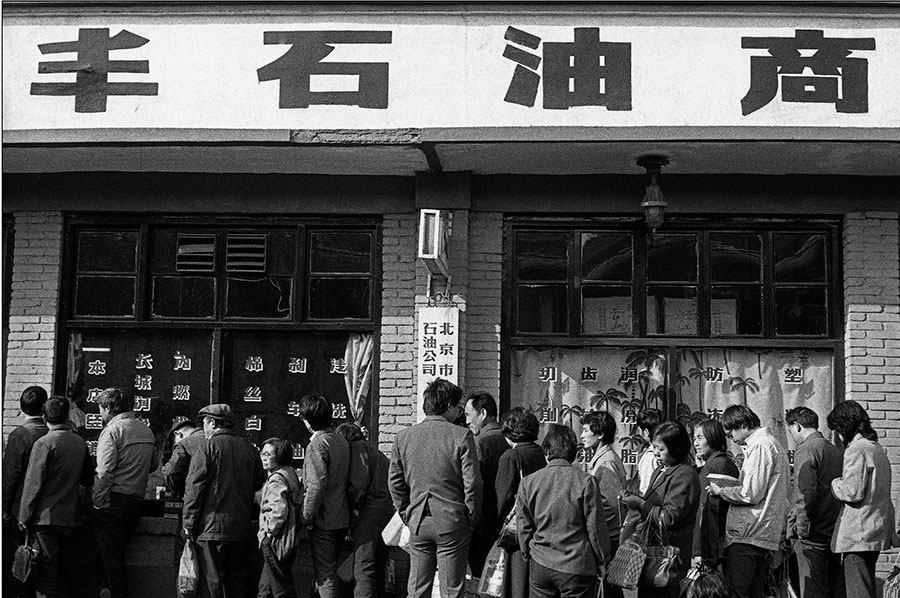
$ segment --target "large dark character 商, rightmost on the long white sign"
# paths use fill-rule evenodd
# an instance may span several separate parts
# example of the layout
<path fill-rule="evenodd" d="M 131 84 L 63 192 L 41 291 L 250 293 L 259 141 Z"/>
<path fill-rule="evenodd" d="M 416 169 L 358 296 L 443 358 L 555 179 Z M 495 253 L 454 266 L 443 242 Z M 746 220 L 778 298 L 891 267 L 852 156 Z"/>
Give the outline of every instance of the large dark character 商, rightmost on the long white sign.
<path fill-rule="evenodd" d="M 744 116 L 771 102 L 779 85 L 783 102 L 834 104 L 841 113 L 869 111 L 869 61 L 849 56 L 874 50 L 874 37 L 826 38 L 822 30 L 797 29 L 794 37 L 742 37 L 741 47 L 769 53 L 750 57 Z"/>

